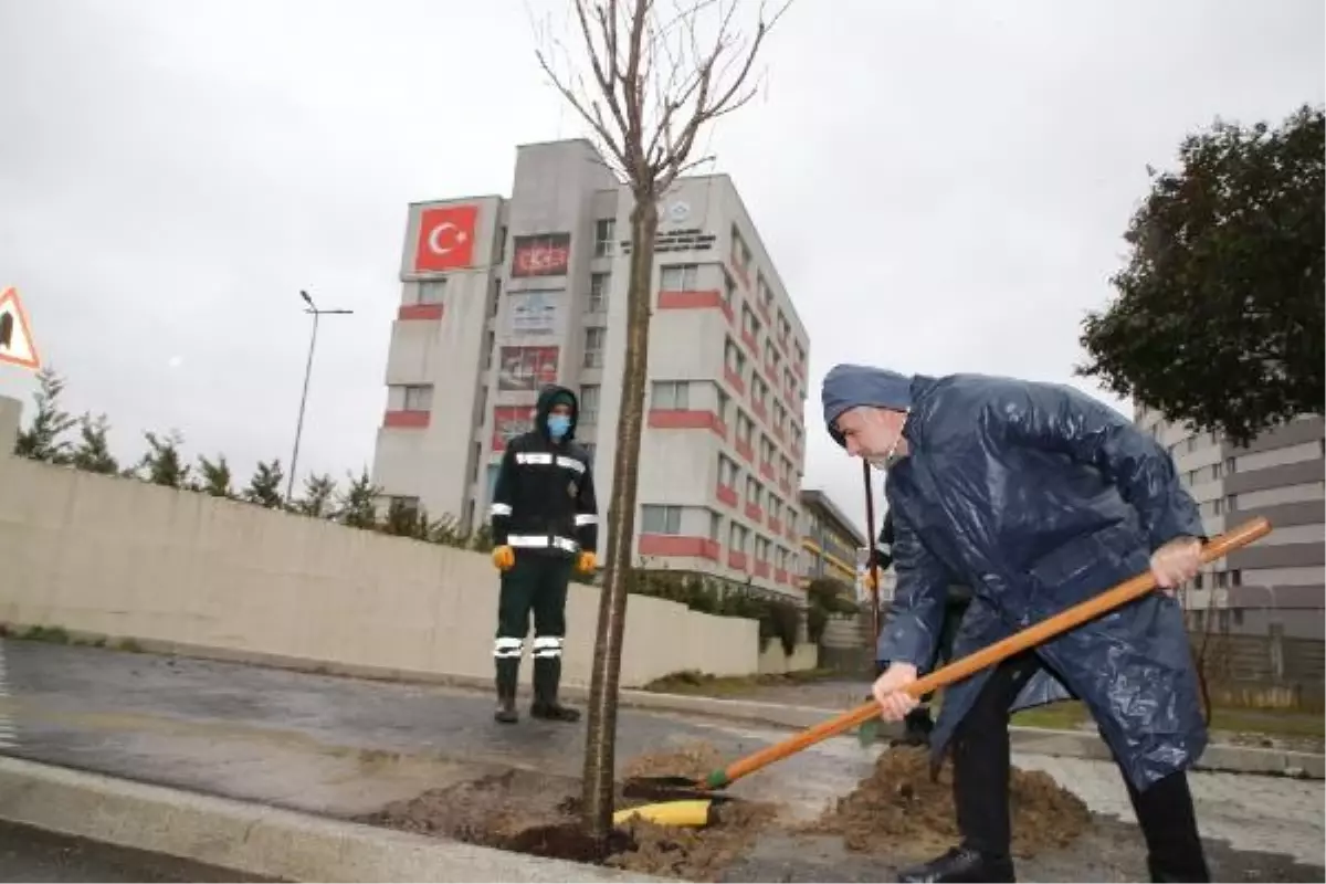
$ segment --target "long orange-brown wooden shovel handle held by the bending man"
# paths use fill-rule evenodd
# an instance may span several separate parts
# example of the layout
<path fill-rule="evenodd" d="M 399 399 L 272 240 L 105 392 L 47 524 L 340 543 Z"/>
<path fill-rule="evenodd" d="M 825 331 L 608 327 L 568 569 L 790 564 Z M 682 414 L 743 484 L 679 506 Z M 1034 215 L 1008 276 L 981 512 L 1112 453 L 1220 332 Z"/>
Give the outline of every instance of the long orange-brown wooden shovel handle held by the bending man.
<path fill-rule="evenodd" d="M 1219 558 L 1224 558 L 1233 550 L 1246 546 L 1269 533 L 1270 522 L 1265 518 L 1254 518 L 1244 522 L 1232 531 L 1227 531 L 1207 543 L 1201 549 L 1201 562 L 1203 565 L 1207 565 Z M 1142 598 L 1155 588 L 1156 579 L 1148 570 L 1146 574 L 1139 574 L 1138 577 L 1124 580 L 1113 590 L 1075 604 L 1067 611 L 1061 611 L 1059 614 L 1055 614 L 1036 626 L 1028 627 L 1016 635 L 1010 635 L 1006 639 L 981 648 L 976 653 L 949 663 L 947 667 L 936 669 L 928 676 L 911 683 L 907 688 L 904 688 L 904 691 L 919 700 L 932 691 L 953 684 L 955 681 L 961 681 L 963 679 L 975 675 L 987 667 L 992 667 L 996 663 L 1021 653 L 1022 651 L 1042 644 L 1061 632 L 1067 632 L 1069 630 L 1082 626 L 1093 618 L 1097 618 L 1107 611 L 1113 611 L 1114 608 L 1127 604 L 1134 599 Z M 711 787 L 725 786 L 749 773 L 772 765 L 776 761 L 782 761 L 788 755 L 793 755 L 802 749 L 815 745 L 817 742 L 827 740 L 829 737 L 835 737 L 845 730 L 850 730 L 857 725 L 878 717 L 879 704 L 871 700 L 870 702 L 862 704 L 850 712 L 842 713 L 837 718 L 830 718 L 829 721 L 814 725 L 813 728 L 808 728 L 806 730 L 802 730 L 780 744 L 766 746 L 760 751 L 735 761 L 721 771 L 721 775 L 720 771 L 715 771 L 707 781 L 707 785 Z M 721 782 L 719 782 L 720 779 Z"/>

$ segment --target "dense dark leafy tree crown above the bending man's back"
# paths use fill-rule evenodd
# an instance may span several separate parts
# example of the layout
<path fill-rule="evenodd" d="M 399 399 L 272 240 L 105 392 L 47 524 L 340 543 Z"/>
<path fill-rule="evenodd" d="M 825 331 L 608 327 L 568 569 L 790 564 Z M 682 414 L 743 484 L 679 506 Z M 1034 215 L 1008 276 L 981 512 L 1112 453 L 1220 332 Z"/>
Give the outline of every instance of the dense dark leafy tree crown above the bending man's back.
<path fill-rule="evenodd" d="M 1083 376 L 1246 443 L 1326 412 L 1326 111 L 1189 135 L 1124 241 L 1116 298 L 1083 322 Z"/>

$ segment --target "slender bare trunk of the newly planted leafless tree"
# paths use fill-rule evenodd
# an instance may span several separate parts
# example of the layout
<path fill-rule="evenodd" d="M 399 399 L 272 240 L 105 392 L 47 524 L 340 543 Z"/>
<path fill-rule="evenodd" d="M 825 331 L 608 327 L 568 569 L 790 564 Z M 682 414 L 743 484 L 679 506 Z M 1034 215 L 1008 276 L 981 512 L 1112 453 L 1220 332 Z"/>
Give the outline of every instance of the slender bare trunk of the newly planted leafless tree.
<path fill-rule="evenodd" d="M 617 424 L 613 492 L 609 497 L 607 567 L 598 606 L 594 676 L 586 721 L 585 827 L 599 844 L 613 828 L 613 783 L 617 742 L 617 692 L 622 669 L 622 636 L 635 539 L 635 488 L 644 425 L 644 383 L 650 364 L 650 314 L 654 290 L 654 239 L 658 203 L 636 193 L 631 209 L 631 269 L 626 290 L 626 371 Z"/>

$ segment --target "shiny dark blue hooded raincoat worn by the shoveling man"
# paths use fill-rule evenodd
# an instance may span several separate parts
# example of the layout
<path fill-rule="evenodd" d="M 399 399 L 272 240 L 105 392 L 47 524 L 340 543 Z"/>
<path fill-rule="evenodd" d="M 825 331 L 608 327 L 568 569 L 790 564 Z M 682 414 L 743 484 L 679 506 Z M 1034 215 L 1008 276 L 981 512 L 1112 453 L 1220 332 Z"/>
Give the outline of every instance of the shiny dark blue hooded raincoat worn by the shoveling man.
<path fill-rule="evenodd" d="M 910 412 L 910 453 L 887 473 L 898 588 L 882 659 L 931 664 L 951 575 L 973 590 L 956 660 L 1147 571 L 1167 541 L 1204 537 L 1170 456 L 1070 387 L 838 366 L 822 402 L 838 444 L 834 421 L 850 408 Z M 1081 698 L 1139 790 L 1205 749 L 1183 614 L 1167 595 L 1152 592 L 1037 653 L 1045 669 L 1013 708 Z M 988 676 L 948 688 L 936 757 Z"/>

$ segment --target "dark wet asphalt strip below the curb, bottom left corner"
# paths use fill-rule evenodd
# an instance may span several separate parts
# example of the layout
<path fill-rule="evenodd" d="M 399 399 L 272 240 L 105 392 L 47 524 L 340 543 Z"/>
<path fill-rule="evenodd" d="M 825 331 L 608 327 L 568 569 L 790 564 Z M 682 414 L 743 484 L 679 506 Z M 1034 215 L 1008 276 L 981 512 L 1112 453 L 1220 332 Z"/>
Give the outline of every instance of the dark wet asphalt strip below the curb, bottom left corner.
<path fill-rule="evenodd" d="M 280 884 L 0 823 L 4 884 Z"/>

